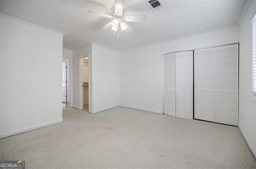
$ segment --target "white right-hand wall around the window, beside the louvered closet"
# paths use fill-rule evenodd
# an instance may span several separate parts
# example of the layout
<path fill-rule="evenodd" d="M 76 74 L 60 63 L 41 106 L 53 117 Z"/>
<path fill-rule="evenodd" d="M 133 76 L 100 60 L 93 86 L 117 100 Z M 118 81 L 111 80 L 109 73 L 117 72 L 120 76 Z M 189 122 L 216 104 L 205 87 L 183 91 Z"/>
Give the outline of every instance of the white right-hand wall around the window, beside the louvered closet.
<path fill-rule="evenodd" d="M 256 12 L 256 1 L 251 1 L 248 7 L 240 23 L 238 126 L 256 157 L 256 101 L 252 100 L 252 24 L 250 24 Z"/>

